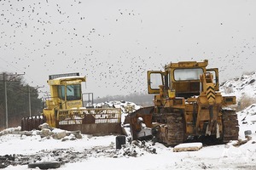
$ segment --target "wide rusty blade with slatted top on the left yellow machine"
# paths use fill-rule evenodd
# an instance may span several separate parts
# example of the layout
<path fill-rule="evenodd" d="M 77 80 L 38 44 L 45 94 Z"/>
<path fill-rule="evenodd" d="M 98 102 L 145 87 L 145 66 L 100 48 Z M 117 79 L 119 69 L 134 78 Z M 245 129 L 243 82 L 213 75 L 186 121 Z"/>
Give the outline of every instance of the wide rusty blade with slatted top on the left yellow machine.
<path fill-rule="evenodd" d="M 57 113 L 58 127 L 80 130 L 88 134 L 121 133 L 119 108 L 61 110 Z"/>

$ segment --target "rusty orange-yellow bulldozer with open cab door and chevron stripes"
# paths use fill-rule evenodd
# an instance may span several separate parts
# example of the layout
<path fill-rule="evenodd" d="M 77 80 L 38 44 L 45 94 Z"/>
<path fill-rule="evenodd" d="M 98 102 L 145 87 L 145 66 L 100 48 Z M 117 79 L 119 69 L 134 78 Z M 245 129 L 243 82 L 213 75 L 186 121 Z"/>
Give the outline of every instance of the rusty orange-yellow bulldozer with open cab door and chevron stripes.
<path fill-rule="evenodd" d="M 154 137 L 167 145 L 186 139 L 215 136 L 227 143 L 238 139 L 236 96 L 218 92 L 218 69 L 208 69 L 208 60 L 170 63 L 165 71 L 148 71 L 148 94 L 154 106 L 126 116 L 132 139 Z"/>

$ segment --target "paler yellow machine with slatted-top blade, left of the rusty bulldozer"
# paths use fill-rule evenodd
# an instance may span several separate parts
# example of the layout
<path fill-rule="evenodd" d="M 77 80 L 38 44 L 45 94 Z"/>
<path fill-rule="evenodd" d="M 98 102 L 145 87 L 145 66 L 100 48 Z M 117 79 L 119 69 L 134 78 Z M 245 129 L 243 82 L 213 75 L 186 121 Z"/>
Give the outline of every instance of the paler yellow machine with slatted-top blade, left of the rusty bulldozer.
<path fill-rule="evenodd" d="M 47 82 L 50 96 L 44 99 L 42 115 L 22 118 L 21 130 L 38 129 L 46 122 L 49 127 L 81 133 L 121 133 L 121 110 L 95 108 L 93 94 L 82 94 L 81 84 L 86 82 L 86 77 L 80 77 L 79 73 L 57 74 L 50 75 Z"/>

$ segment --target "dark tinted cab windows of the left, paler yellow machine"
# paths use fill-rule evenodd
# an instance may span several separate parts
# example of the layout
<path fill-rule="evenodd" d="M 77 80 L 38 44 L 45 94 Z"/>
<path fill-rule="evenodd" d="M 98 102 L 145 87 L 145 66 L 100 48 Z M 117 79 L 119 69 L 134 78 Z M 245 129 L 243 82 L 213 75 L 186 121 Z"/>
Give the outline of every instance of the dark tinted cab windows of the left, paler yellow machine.
<path fill-rule="evenodd" d="M 67 85 L 67 101 L 81 99 L 81 86 L 80 84 Z M 65 86 L 58 87 L 59 98 L 65 99 Z"/>

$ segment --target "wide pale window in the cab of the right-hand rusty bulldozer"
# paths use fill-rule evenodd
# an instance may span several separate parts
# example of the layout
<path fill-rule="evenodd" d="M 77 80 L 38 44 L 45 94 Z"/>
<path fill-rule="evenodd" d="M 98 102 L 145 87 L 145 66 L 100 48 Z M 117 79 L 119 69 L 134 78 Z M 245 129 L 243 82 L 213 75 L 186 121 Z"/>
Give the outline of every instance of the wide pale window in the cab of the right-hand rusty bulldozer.
<path fill-rule="evenodd" d="M 203 74 L 203 70 L 201 68 L 176 69 L 174 70 L 174 79 L 176 81 L 199 80 L 201 74 Z"/>

